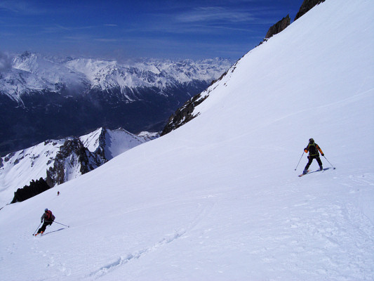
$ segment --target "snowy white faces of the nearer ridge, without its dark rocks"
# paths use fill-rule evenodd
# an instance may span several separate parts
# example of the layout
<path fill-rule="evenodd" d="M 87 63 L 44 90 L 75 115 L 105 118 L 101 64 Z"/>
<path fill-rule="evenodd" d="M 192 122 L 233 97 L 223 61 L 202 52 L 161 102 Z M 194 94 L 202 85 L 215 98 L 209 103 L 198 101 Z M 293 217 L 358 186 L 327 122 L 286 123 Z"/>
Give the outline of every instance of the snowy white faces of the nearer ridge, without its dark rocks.
<path fill-rule="evenodd" d="M 44 141 L 31 148 L 0 157 L 0 208 L 11 202 L 14 192 L 18 188 L 29 185 L 32 180 L 46 179 L 47 170 L 55 164 L 61 146 L 64 145 L 65 141 L 72 140 L 72 138 Z M 91 159 L 90 166 L 107 162 L 126 150 L 150 141 L 147 132 L 144 132 L 142 136 L 137 136 L 124 129 L 110 130 L 104 128 L 99 128 L 92 133 L 81 136 L 79 139 L 84 147 L 91 152 L 88 158 L 99 158 Z M 102 150 L 104 150 L 104 154 L 102 154 Z M 69 175 L 66 180 L 81 176 L 81 163 L 77 158 L 79 157 L 72 153 L 67 156 L 67 159 L 63 159 L 65 175 Z"/>

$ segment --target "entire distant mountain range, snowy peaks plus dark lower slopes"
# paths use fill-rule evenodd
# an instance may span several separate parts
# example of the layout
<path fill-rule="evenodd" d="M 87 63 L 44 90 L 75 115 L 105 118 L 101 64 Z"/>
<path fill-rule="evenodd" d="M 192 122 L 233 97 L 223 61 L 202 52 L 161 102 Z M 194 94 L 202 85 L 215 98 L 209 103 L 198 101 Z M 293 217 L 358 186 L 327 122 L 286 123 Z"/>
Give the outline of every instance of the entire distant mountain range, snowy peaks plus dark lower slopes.
<path fill-rule="evenodd" d="M 47 58 L 25 52 L 0 72 L 0 153 L 105 126 L 160 131 L 186 100 L 231 65 L 227 59 Z"/>

